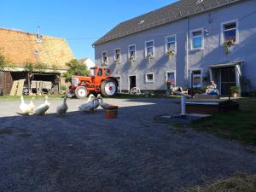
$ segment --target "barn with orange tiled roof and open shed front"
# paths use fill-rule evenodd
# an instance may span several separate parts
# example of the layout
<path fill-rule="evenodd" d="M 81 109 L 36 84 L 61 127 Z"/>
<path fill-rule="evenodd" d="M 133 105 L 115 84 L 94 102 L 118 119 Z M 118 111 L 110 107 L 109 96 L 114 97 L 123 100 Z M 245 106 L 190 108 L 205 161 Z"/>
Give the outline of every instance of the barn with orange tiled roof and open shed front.
<path fill-rule="evenodd" d="M 48 82 L 50 90 L 58 93 L 61 73 L 67 71 L 65 63 L 74 59 L 63 38 L 5 28 L 0 28 L 0 55 L 5 61 L 0 69 L 0 90 L 7 95 L 20 79 L 25 80 L 26 89 L 33 82 Z"/>

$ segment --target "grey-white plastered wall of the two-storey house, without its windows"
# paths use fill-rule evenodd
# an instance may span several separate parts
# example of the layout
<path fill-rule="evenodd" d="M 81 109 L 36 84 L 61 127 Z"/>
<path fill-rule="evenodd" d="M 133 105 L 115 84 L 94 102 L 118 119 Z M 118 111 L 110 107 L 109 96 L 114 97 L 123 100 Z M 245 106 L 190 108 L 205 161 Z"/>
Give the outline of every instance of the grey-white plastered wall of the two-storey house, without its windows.
<path fill-rule="evenodd" d="M 176 85 L 191 86 L 191 72 L 201 70 L 203 77 L 209 66 L 218 63 L 244 61 L 242 75 L 250 79 L 256 87 L 256 1 L 247 0 L 201 15 L 194 15 L 188 20 L 157 26 L 143 32 L 137 32 L 95 45 L 95 61 L 102 63 L 102 53 L 108 53 L 107 67 L 113 76 L 120 76 L 122 90 L 129 90 L 129 76 L 137 76 L 137 87 L 141 90 L 165 90 L 166 72 L 175 72 Z M 236 20 L 237 44 L 225 55 L 222 40 L 222 24 Z M 202 30 L 203 45 L 201 49 L 192 48 L 192 32 Z M 187 47 L 187 34 L 189 42 Z M 176 51 L 174 55 L 166 54 L 166 37 L 175 35 Z M 154 41 L 154 57 L 148 61 L 145 44 Z M 136 45 L 136 60 L 129 59 L 129 45 Z M 115 49 L 120 49 L 120 61 L 114 61 Z M 188 51 L 188 62 L 187 53 Z M 103 64 L 103 63 L 102 63 Z M 154 73 L 154 82 L 146 81 L 146 74 Z"/>

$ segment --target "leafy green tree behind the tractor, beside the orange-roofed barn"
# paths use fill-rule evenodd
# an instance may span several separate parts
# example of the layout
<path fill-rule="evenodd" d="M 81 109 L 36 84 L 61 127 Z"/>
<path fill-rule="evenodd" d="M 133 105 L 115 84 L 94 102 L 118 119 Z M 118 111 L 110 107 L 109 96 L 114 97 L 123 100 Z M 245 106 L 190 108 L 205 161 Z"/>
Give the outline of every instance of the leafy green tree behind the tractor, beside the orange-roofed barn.
<path fill-rule="evenodd" d="M 84 64 L 79 63 L 76 59 L 69 61 L 66 63 L 68 67 L 67 73 L 64 73 L 63 76 L 66 78 L 67 81 L 71 82 L 71 78 L 73 75 L 80 75 L 80 76 L 88 76 L 89 71 Z"/>

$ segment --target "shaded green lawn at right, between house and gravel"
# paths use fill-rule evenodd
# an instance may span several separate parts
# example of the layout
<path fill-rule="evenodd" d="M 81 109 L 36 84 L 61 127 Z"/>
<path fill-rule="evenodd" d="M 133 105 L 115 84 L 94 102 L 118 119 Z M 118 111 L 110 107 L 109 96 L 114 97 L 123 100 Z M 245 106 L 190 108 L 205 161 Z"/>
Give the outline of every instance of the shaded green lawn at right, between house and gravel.
<path fill-rule="evenodd" d="M 256 99 L 238 101 L 240 110 L 219 113 L 211 118 L 192 123 L 197 131 L 209 131 L 219 137 L 238 140 L 241 143 L 256 145 Z"/>

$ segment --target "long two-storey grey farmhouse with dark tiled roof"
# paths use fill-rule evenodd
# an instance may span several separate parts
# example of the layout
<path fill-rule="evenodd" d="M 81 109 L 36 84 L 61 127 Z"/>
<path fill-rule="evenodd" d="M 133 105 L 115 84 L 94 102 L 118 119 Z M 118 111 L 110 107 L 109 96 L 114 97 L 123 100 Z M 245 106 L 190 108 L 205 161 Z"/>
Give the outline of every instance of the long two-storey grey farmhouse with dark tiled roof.
<path fill-rule="evenodd" d="M 214 80 L 256 86 L 256 1 L 180 0 L 124 21 L 98 39 L 95 61 L 110 67 L 121 90 L 201 89 Z"/>

